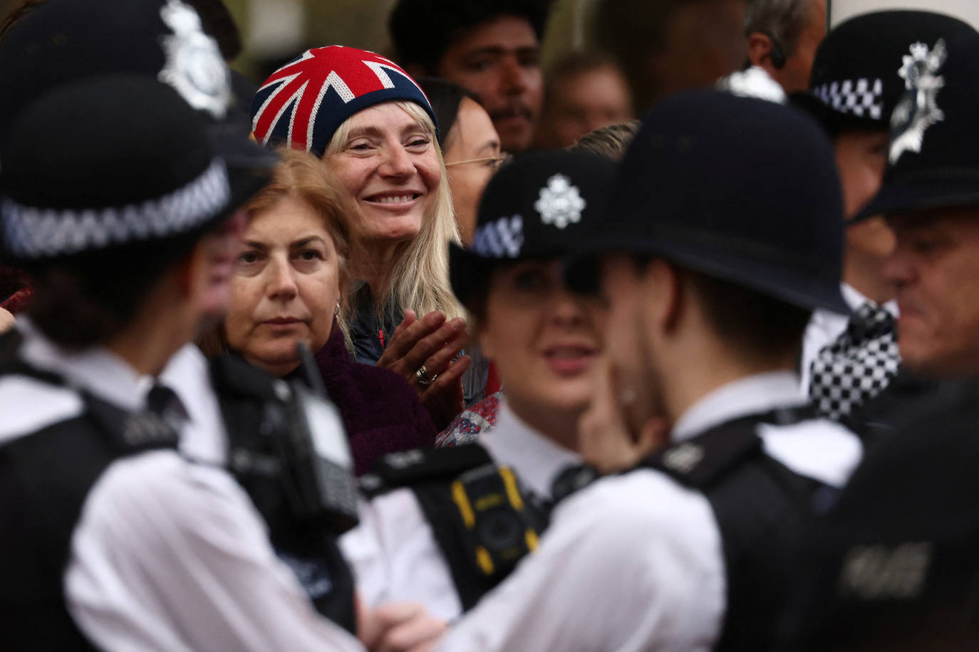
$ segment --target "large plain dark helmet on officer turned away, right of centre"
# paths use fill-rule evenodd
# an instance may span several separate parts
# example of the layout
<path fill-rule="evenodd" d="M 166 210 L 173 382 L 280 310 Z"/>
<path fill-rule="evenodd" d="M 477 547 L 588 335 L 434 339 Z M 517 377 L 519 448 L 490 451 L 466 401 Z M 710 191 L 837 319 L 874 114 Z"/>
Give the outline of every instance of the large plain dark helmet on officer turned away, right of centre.
<path fill-rule="evenodd" d="M 808 310 L 840 294 L 843 207 L 833 151 L 797 109 L 715 90 L 643 119 L 588 249 L 660 256 Z M 584 288 L 587 259 L 567 278 Z"/>

